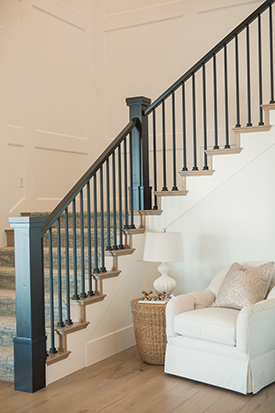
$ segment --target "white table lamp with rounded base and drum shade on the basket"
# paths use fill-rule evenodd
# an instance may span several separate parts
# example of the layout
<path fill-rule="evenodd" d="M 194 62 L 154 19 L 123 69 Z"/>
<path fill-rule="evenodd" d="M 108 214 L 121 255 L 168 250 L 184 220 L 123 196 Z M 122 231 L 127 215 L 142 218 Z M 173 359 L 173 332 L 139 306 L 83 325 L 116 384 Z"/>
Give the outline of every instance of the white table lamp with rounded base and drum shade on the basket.
<path fill-rule="evenodd" d="M 180 232 L 147 232 L 144 244 L 144 261 L 161 262 L 158 271 L 161 276 L 154 281 L 157 292 L 166 291 L 170 296 L 177 283 L 168 273 L 167 262 L 183 261 L 182 234 Z"/>

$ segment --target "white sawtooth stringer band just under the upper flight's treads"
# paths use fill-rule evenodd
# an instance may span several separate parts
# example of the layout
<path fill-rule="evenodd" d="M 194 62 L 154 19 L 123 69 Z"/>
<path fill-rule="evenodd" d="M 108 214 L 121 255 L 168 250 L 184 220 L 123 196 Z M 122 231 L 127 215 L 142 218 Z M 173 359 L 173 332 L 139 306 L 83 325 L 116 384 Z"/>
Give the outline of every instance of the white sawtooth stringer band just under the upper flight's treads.
<path fill-rule="evenodd" d="M 271 124 L 275 124 L 275 113 L 271 114 Z M 161 199 L 161 217 L 148 217 L 147 229 L 159 231 L 166 228 L 179 216 L 201 202 L 212 191 L 223 185 L 233 175 L 238 173 L 249 163 L 253 162 L 261 153 L 265 152 L 274 143 L 274 126 L 269 132 L 251 132 L 241 134 L 239 154 L 214 156 L 213 175 L 187 176 L 186 185 L 188 194 L 184 197 L 163 197 Z"/>

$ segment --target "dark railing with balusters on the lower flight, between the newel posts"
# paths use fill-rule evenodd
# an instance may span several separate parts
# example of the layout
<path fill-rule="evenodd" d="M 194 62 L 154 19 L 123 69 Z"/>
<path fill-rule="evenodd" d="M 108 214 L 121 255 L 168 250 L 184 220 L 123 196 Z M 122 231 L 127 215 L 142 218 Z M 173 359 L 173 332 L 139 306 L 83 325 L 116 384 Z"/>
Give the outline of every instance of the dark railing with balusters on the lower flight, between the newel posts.
<path fill-rule="evenodd" d="M 133 186 L 129 186 L 128 194 L 128 175 L 132 174 L 133 169 L 133 153 L 131 150 L 132 146 L 132 133 L 135 128 L 138 127 L 138 118 L 132 119 L 129 124 L 123 129 L 123 131 L 117 136 L 117 138 L 109 145 L 109 147 L 103 152 L 103 154 L 96 160 L 96 162 L 88 169 L 88 171 L 82 176 L 82 178 L 75 184 L 75 186 L 70 190 L 70 192 L 65 196 L 65 198 L 59 203 L 59 205 L 53 210 L 53 212 L 48 216 L 45 226 L 42 228 L 42 236 L 48 234 L 49 238 L 49 277 L 53 280 L 53 264 L 52 255 L 53 247 L 52 238 L 53 226 L 57 224 L 57 267 L 58 267 L 58 321 L 56 325 L 55 311 L 54 311 L 54 294 L 53 288 L 51 289 L 51 314 L 50 314 L 50 330 L 51 330 L 51 345 L 50 354 L 57 352 L 54 340 L 54 329 L 55 325 L 57 327 L 64 327 L 72 323 L 70 316 L 70 294 L 69 294 L 69 279 L 66 280 L 66 302 L 67 302 L 67 319 L 64 322 L 64 317 L 62 314 L 62 280 L 61 280 L 61 241 L 60 241 L 60 219 L 63 213 L 65 213 L 65 254 L 66 254 L 66 272 L 68 274 L 69 270 L 69 248 L 68 248 L 68 213 L 69 208 L 72 209 L 72 219 L 73 219 L 73 289 L 74 294 L 72 299 L 79 300 L 91 297 L 95 294 L 92 287 L 93 284 L 93 274 L 99 274 L 101 272 L 106 272 L 105 266 L 105 250 L 118 250 L 124 249 L 122 231 L 123 228 L 134 228 L 133 222 L 133 202 L 130 203 L 131 211 L 131 224 L 128 225 L 128 210 L 124 211 L 125 225 L 123 227 L 123 213 L 122 213 L 122 196 L 125 200 L 128 197 L 132 199 Z M 139 139 L 140 140 L 140 139 Z M 128 144 L 127 144 L 128 142 Z M 127 166 L 125 163 L 125 191 L 122 193 L 122 173 L 121 173 L 121 145 L 124 145 L 125 158 L 127 162 L 127 147 L 130 148 L 128 154 L 128 165 L 129 173 L 127 171 Z M 118 167 L 116 158 L 118 157 Z M 112 173 L 110 178 L 109 164 L 112 164 Z M 106 187 L 104 187 L 104 175 L 106 177 Z M 100 182 L 100 191 L 98 196 L 98 181 Z M 129 182 L 130 184 L 130 182 Z M 91 195 L 90 188 L 93 188 L 93 195 Z M 113 198 L 112 210 L 110 211 L 110 187 L 111 195 Z M 117 187 L 119 192 L 117 206 Z M 126 190 L 127 189 L 127 190 Z M 104 225 L 104 194 L 107 194 L 107 222 Z M 86 195 L 86 210 L 84 208 L 84 196 Z M 91 198 L 93 202 L 91 202 Z M 100 199 L 100 202 L 98 201 Z M 79 212 L 76 212 L 76 203 L 79 201 Z M 125 201 L 126 202 L 126 201 Z M 93 208 L 91 208 L 91 204 Z M 99 205 L 100 204 L 100 205 Z M 126 205 L 126 204 L 125 204 Z M 128 202 L 127 202 L 128 205 Z M 99 210 L 98 210 L 99 206 Z M 110 215 L 113 215 L 112 227 L 110 223 Z M 118 220 L 117 220 L 118 215 Z M 91 225 L 91 220 L 93 220 L 93 226 Z M 100 225 L 98 225 L 98 220 Z M 78 225 L 79 235 L 80 235 L 80 257 L 78 257 L 79 250 L 76 245 L 76 227 Z M 117 228 L 118 225 L 118 228 Z M 107 235 L 105 235 L 105 228 L 107 230 Z M 87 243 L 85 243 L 85 229 Z M 119 232 L 119 242 L 117 240 L 117 229 Z M 113 239 L 111 243 L 111 238 Z M 99 242 L 100 241 L 100 242 Z M 112 245 L 111 245 L 112 244 Z M 93 247 L 92 247 L 93 245 Z M 100 252 L 100 257 L 99 257 Z M 85 265 L 85 257 L 87 256 L 87 265 Z M 80 258 L 80 259 L 79 259 Z M 99 260 L 101 266 L 99 265 Z M 78 279 L 80 283 L 78 282 Z M 88 279 L 88 291 L 86 291 L 86 280 Z"/>

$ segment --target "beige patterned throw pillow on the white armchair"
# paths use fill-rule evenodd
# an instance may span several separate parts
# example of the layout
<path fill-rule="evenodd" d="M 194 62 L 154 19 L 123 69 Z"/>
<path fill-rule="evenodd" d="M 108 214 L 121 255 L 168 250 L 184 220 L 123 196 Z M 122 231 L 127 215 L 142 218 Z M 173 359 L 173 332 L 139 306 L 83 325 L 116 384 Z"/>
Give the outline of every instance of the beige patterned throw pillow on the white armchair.
<path fill-rule="evenodd" d="M 247 270 L 235 262 L 229 268 L 212 307 L 241 310 L 246 305 L 264 300 L 274 270 L 274 262 Z"/>

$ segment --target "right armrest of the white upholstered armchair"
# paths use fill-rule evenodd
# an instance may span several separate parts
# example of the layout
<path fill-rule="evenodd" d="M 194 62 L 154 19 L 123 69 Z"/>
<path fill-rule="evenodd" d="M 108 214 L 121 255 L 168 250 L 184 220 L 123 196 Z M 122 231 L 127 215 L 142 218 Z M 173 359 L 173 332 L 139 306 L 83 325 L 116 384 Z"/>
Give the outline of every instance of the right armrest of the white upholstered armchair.
<path fill-rule="evenodd" d="M 237 319 L 236 345 L 251 358 L 275 350 L 275 298 L 244 307 Z"/>

